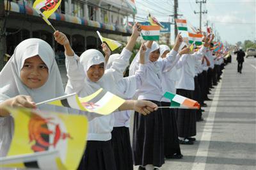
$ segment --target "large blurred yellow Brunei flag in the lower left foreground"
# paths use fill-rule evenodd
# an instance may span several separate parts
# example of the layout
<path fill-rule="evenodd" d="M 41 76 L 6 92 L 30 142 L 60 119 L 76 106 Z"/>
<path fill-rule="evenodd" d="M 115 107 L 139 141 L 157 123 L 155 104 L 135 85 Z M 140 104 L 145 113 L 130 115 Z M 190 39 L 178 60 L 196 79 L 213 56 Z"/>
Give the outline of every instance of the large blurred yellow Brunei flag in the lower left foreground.
<path fill-rule="evenodd" d="M 28 108 L 7 108 L 13 138 L 1 167 L 77 169 L 88 134 L 86 116 Z"/>

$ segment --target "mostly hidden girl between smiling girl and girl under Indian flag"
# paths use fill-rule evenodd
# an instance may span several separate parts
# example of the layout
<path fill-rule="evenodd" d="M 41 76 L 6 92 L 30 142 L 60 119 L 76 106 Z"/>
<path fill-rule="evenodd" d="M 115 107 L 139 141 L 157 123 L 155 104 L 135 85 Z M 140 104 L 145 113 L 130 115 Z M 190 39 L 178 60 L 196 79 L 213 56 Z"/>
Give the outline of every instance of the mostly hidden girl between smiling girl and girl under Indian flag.
<path fill-rule="evenodd" d="M 140 47 L 140 66 L 135 75 L 124 77 L 118 81 L 117 88 L 120 93 L 125 95 L 125 99 L 131 99 L 136 93 L 136 89 L 140 88 L 146 67 L 144 65 L 144 56 L 147 47 L 144 43 Z M 106 68 L 110 68 L 113 62 L 120 54 L 112 54 L 109 57 Z M 125 72 L 124 72 L 125 73 Z M 111 132 L 111 143 L 115 155 L 116 169 L 132 170 L 132 149 L 129 134 L 129 123 L 131 111 L 118 111 L 113 113 L 115 116 L 115 124 Z"/>

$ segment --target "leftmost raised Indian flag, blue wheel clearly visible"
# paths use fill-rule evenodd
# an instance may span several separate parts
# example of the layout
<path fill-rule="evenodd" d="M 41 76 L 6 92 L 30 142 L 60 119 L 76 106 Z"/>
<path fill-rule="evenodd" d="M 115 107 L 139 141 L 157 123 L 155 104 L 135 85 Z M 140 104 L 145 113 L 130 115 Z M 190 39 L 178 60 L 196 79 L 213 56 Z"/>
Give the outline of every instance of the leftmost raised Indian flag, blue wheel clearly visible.
<path fill-rule="evenodd" d="M 143 40 L 159 40 L 160 26 L 141 26 Z"/>

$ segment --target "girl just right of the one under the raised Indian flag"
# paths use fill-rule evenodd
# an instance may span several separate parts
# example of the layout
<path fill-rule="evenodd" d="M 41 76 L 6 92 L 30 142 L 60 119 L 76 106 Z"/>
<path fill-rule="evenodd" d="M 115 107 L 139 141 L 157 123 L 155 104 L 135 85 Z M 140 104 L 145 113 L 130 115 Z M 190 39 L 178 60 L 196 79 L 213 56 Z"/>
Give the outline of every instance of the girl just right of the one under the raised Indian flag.
<path fill-rule="evenodd" d="M 170 48 L 167 45 L 160 45 L 160 60 L 168 56 Z M 175 81 L 179 80 L 177 69 L 175 66 L 170 70 L 164 70 L 162 79 L 163 92 L 176 93 Z M 162 106 L 170 106 L 171 102 L 168 98 L 162 98 Z M 175 117 L 175 109 L 162 108 L 163 124 L 164 124 L 164 157 L 165 158 L 182 158 L 180 152 L 177 122 Z"/>

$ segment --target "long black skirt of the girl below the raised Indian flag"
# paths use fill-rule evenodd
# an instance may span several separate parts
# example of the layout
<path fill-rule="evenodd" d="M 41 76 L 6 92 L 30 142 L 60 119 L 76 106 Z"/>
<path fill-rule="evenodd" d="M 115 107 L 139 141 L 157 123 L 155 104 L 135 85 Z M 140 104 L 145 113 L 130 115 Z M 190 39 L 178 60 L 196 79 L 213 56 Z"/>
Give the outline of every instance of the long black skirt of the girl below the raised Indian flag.
<path fill-rule="evenodd" d="M 150 100 L 158 106 L 161 102 Z M 161 167 L 164 164 L 163 116 L 161 109 L 147 116 L 135 112 L 132 138 L 134 165 Z"/>

